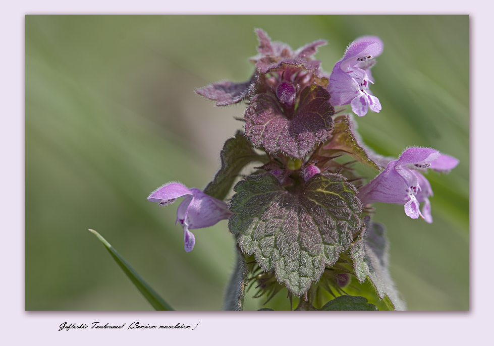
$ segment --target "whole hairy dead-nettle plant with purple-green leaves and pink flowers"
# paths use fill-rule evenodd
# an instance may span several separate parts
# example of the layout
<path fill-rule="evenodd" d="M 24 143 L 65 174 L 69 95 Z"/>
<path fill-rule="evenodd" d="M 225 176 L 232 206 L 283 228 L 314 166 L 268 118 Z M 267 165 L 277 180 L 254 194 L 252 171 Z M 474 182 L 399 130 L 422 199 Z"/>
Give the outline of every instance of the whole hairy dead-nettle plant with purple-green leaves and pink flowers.
<path fill-rule="evenodd" d="M 148 200 L 169 205 L 185 197 L 177 222 L 187 252 L 195 244 L 190 229 L 228 219 L 238 255 L 226 310 L 242 310 L 246 287 L 253 286 L 256 297 L 267 300 L 286 288 L 290 305 L 298 300 L 296 310 L 405 310 L 388 269 L 385 227 L 371 219 L 372 203 L 404 205 L 407 216 L 431 223 L 432 189 L 423 174 L 449 171 L 459 161 L 423 147 L 393 159 L 363 144 L 342 106 L 349 104 L 359 117 L 381 110 L 369 89 L 375 57 L 383 51 L 378 37 L 350 43 L 328 74 L 313 58 L 325 41 L 293 50 L 261 29 L 256 33 L 248 81 L 196 90 L 217 106 L 247 104 L 243 131 L 224 144 L 217 174 L 203 191 L 169 183 Z M 241 176 L 251 162 L 255 168 Z M 363 176 L 358 163 L 374 169 L 375 177 Z M 235 195 L 226 201 L 232 187 Z M 377 293 L 376 304 L 359 294 L 365 284 Z M 150 287 L 141 292 L 156 297 Z M 155 307 L 168 307 L 154 299 Z"/>

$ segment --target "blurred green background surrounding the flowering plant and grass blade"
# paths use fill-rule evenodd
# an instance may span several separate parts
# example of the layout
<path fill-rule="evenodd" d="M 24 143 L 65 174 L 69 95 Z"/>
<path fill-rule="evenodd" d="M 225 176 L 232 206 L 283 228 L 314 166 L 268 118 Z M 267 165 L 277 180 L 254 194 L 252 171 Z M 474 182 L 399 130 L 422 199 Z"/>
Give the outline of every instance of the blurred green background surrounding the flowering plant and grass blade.
<path fill-rule="evenodd" d="M 152 310 L 88 228 L 175 309 L 222 309 L 227 221 L 195 230 L 185 253 L 178 204 L 146 198 L 214 176 L 245 106 L 214 107 L 193 90 L 248 79 L 257 27 L 294 49 L 326 39 L 316 58 L 328 72 L 358 36 L 382 39 L 371 87 L 382 110 L 357 119 L 365 143 L 460 159 L 427 175 L 432 224 L 375 204 L 391 273 L 410 310 L 468 310 L 468 16 L 26 16 L 26 310 Z"/>

